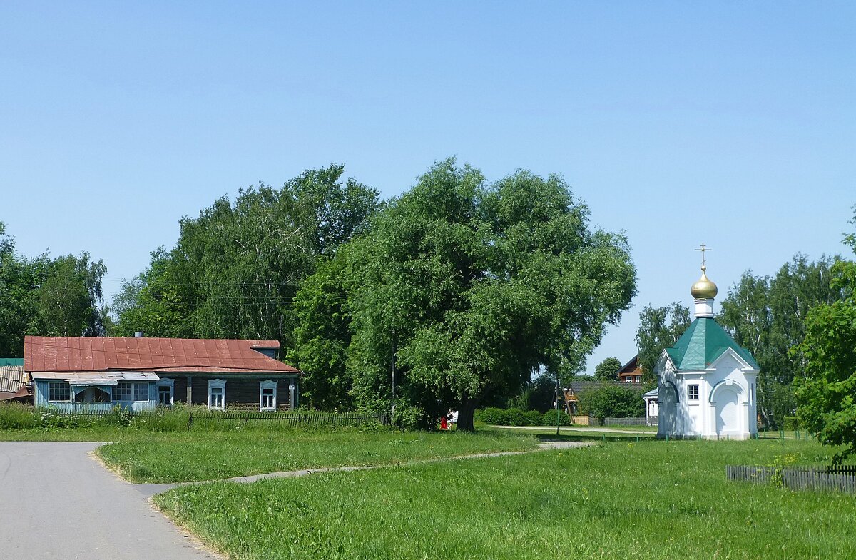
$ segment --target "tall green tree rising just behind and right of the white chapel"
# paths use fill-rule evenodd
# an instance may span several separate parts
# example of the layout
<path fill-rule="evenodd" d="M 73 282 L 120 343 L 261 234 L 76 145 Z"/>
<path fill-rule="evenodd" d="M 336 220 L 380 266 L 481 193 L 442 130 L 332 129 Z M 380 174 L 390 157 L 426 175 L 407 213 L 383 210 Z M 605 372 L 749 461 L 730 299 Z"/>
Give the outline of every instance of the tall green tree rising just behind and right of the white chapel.
<path fill-rule="evenodd" d="M 840 299 L 830 287 L 838 257 L 811 262 L 797 254 L 772 277 L 746 271 L 728 290 L 716 320 L 740 346 L 752 352 L 758 373 L 758 414 L 766 426 L 782 426 L 794 414 L 792 381 L 803 365 L 789 350 L 805 339 L 808 313 L 818 304 Z"/>

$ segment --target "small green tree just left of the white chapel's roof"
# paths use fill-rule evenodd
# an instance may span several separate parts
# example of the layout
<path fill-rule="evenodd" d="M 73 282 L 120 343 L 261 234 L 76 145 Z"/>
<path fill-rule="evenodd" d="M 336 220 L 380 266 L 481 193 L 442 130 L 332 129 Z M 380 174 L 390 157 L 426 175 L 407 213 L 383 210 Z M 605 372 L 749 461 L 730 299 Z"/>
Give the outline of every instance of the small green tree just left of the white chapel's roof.
<path fill-rule="evenodd" d="M 690 325 L 690 310 L 677 301 L 668 306 L 645 306 L 639 313 L 639 328 L 636 331 L 636 344 L 639 347 L 639 366 L 645 383 L 652 383 L 654 367 L 663 354 L 670 348 Z"/>

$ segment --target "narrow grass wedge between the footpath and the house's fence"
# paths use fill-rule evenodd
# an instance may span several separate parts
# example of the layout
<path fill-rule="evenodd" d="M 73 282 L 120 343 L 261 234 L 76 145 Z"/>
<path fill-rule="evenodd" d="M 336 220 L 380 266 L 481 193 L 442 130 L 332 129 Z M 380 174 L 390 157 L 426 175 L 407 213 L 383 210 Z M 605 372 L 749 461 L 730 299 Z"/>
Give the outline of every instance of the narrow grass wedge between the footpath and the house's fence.
<path fill-rule="evenodd" d="M 215 480 L 302 468 L 383 465 L 527 450 L 532 436 L 502 432 L 184 432 L 126 436 L 98 456 L 134 482 Z"/>

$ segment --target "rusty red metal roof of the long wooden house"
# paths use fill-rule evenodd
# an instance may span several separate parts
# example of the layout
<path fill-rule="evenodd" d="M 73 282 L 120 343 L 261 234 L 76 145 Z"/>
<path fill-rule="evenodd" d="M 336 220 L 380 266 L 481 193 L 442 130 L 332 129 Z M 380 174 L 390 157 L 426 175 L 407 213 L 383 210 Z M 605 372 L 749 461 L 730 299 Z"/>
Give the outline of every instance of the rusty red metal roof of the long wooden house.
<path fill-rule="evenodd" d="M 278 348 L 276 340 L 25 337 L 24 369 L 27 372 L 299 372 L 254 350 Z"/>

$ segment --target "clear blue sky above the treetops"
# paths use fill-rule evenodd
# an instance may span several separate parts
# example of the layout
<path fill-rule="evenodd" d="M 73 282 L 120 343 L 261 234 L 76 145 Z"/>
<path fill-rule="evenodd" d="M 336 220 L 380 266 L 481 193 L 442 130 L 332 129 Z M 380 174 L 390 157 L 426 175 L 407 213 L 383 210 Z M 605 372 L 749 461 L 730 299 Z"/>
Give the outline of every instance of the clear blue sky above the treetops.
<path fill-rule="evenodd" d="M 456 155 L 561 173 L 625 229 L 639 309 L 841 253 L 856 3 L 0 3 L 0 221 L 109 295 L 223 194 L 331 162 L 400 194 Z"/>

